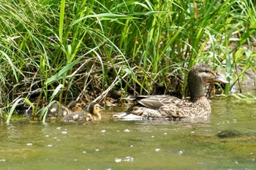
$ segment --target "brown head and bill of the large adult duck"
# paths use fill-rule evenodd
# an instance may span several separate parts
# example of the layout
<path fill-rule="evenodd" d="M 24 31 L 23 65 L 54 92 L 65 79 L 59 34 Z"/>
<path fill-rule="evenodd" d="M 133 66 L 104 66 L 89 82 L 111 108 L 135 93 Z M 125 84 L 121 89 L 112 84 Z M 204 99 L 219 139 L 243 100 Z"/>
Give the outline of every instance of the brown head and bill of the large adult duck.
<path fill-rule="evenodd" d="M 202 85 L 206 84 L 206 82 L 228 83 L 211 70 L 210 66 L 206 63 L 196 64 L 189 71 L 188 84 L 191 85 L 193 82 L 200 82 Z"/>

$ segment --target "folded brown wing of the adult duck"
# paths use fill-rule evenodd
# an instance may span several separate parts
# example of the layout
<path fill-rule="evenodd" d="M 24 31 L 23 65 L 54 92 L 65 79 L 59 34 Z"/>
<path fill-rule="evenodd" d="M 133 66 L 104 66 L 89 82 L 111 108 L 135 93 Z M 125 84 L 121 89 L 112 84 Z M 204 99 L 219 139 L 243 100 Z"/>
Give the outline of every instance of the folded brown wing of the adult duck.
<path fill-rule="evenodd" d="M 179 98 L 167 95 L 136 96 L 136 100 L 143 107 L 147 107 L 149 109 L 159 109 L 162 106 L 177 104 L 181 101 Z"/>

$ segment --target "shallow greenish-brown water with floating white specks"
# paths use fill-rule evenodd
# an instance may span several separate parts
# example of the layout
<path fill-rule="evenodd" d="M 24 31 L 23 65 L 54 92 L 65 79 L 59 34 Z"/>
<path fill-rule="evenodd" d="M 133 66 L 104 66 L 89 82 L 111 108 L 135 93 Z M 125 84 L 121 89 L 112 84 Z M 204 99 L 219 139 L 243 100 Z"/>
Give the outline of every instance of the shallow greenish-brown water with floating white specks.
<path fill-rule="evenodd" d="M 211 102 L 208 122 L 122 121 L 0 124 L 0 169 L 256 169 L 256 137 L 219 139 L 225 129 L 256 131 L 255 104 Z"/>

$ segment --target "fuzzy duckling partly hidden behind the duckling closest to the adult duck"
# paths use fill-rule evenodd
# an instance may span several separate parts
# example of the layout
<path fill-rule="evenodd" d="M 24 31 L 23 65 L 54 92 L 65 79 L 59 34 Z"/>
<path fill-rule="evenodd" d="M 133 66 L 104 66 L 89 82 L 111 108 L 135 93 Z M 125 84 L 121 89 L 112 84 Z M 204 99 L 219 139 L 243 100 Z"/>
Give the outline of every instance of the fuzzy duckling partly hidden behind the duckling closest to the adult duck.
<path fill-rule="evenodd" d="M 82 104 L 78 101 L 71 101 L 67 107 L 62 104 L 53 104 L 48 110 L 48 116 L 50 117 L 64 117 L 71 114 L 72 112 L 77 112 L 82 110 Z"/>

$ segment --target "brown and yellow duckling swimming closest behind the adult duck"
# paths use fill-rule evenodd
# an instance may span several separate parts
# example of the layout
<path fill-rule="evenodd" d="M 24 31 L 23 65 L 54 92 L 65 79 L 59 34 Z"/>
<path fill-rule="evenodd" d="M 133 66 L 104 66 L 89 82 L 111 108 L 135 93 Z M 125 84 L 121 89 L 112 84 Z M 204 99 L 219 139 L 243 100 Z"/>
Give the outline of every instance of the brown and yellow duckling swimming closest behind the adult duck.
<path fill-rule="evenodd" d="M 66 115 L 62 118 L 63 122 L 81 122 L 81 121 L 98 121 L 101 120 L 102 116 L 99 113 L 100 106 L 99 104 L 92 102 L 89 104 L 89 112 L 78 111 L 72 112 L 69 115 Z"/>

